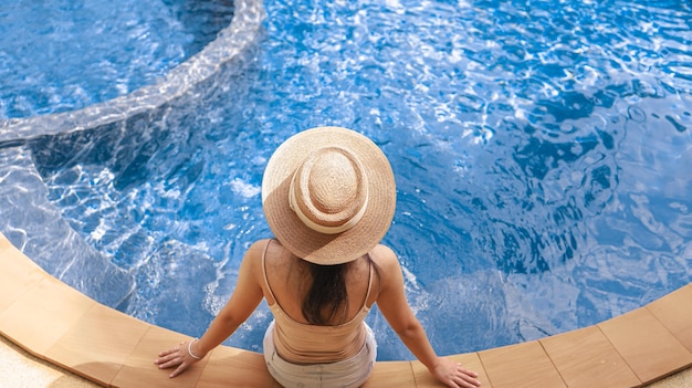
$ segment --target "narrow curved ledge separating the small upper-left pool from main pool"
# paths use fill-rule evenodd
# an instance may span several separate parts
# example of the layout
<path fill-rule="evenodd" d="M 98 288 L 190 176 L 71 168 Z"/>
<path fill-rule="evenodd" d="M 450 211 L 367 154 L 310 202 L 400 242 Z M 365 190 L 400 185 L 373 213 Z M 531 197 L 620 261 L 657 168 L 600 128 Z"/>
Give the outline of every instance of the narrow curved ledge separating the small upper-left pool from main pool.
<path fill-rule="evenodd" d="M 217 74 L 221 66 L 245 61 L 262 35 L 265 18 L 262 0 L 234 0 L 231 23 L 218 33 L 217 39 L 171 69 L 158 83 L 80 109 L 0 119 L 0 146 L 123 122 L 179 98 Z M 238 70 L 243 67 L 237 66 Z"/>

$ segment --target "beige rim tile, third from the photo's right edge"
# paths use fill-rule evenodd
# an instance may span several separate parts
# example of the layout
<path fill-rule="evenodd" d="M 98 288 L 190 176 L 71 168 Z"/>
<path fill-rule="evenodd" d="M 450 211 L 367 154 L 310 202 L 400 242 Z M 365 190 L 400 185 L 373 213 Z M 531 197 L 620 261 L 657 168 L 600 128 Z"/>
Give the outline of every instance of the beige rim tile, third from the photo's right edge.
<path fill-rule="evenodd" d="M 641 381 L 597 326 L 543 338 L 548 357 L 570 388 L 638 387 Z"/>

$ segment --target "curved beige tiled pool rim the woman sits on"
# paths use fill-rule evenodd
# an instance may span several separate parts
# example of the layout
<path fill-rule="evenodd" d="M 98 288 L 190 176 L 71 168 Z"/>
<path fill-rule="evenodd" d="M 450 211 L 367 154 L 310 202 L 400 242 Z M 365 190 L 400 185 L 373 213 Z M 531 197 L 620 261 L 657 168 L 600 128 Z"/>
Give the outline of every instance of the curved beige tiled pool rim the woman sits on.
<path fill-rule="evenodd" d="M 153 360 L 189 336 L 91 300 L 0 233 L 0 335 L 104 387 L 279 387 L 261 354 L 220 346 L 176 379 Z M 692 367 L 692 283 L 594 326 L 452 355 L 483 387 L 641 387 Z M 439 387 L 419 361 L 379 361 L 364 387 Z"/>

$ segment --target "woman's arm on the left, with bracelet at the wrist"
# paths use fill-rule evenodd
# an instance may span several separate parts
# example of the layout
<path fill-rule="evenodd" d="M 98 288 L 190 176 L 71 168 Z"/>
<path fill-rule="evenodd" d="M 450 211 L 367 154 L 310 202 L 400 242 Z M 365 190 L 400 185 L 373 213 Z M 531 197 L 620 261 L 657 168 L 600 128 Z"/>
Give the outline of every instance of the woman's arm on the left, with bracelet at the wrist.
<path fill-rule="evenodd" d="M 202 337 L 161 352 L 154 364 L 160 369 L 177 367 L 170 374 L 171 378 L 176 377 L 190 365 L 202 359 L 207 353 L 219 346 L 248 319 L 264 296 L 258 271 L 261 270 L 261 259 L 266 243 L 266 240 L 261 240 L 250 247 L 240 264 L 235 290 Z"/>

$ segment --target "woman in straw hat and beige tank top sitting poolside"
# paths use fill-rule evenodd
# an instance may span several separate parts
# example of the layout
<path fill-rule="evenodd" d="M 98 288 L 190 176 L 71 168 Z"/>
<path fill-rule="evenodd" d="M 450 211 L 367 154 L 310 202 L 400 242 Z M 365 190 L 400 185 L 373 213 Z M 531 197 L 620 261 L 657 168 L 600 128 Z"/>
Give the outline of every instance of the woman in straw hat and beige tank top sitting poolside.
<path fill-rule="evenodd" d="M 262 205 L 276 240 L 255 242 L 229 302 L 200 339 L 159 354 L 182 373 L 228 338 L 265 298 L 270 374 L 284 387 L 359 387 L 377 345 L 364 319 L 377 303 L 411 353 L 449 387 L 478 375 L 438 357 L 413 315 L 396 254 L 379 244 L 395 213 L 396 187 L 382 151 L 345 128 L 319 127 L 283 143 L 268 162 Z"/>

